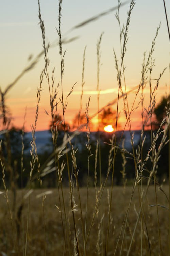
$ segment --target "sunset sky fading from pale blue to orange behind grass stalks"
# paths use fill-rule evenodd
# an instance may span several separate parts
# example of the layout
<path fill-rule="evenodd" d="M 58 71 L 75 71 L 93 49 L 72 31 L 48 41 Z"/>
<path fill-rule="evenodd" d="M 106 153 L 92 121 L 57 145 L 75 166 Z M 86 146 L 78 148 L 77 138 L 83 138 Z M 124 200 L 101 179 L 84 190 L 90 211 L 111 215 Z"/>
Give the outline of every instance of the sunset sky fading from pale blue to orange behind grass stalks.
<path fill-rule="evenodd" d="M 170 14 L 170 2 L 165 1 L 168 17 Z M 52 76 L 52 69 L 55 67 L 54 86 L 58 87 L 57 111 L 62 115 L 60 103 L 61 98 L 61 76 L 60 76 L 60 55 L 58 34 L 58 1 L 57 0 L 40 0 L 41 16 L 45 25 L 46 43 L 50 42 L 49 49 L 49 74 Z M 82 83 L 82 61 L 83 52 L 86 46 L 85 69 L 84 69 L 84 87 L 82 98 L 82 113 L 86 110 L 86 104 L 90 98 L 89 115 L 92 116 L 97 112 L 97 50 L 96 44 L 101 33 L 104 32 L 101 41 L 101 67 L 99 74 L 99 108 L 103 108 L 109 102 L 115 101 L 118 97 L 117 71 L 113 49 L 116 53 L 118 65 L 121 60 L 120 50 L 120 31 L 116 20 L 116 11 L 110 12 L 101 18 L 88 23 L 86 26 L 74 28 L 79 23 L 107 11 L 117 6 L 117 1 L 102 0 L 63 0 L 62 2 L 62 19 L 61 33 L 62 38 L 69 40 L 77 38 L 72 42 L 63 44 L 63 51 L 66 50 L 64 57 L 64 76 L 63 76 L 63 97 L 64 101 L 70 92 L 73 84 L 73 92 L 67 98 L 68 105 L 65 111 L 65 119 L 72 125 L 72 120 L 79 112 L 81 83 Z M 130 2 L 120 8 L 121 26 L 126 24 L 127 13 Z M 141 80 L 141 70 L 143 54 L 146 56 L 151 49 L 152 40 L 155 37 L 156 29 L 161 22 L 158 36 L 155 43 L 153 59 L 155 59 L 152 71 L 152 86 L 164 68 L 165 70 L 156 92 L 157 103 L 161 98 L 169 93 L 170 72 L 169 57 L 170 44 L 167 31 L 167 24 L 164 12 L 163 1 L 158 0 L 137 0 L 131 13 L 131 19 L 128 31 L 128 43 L 124 57 L 126 86 L 131 92 L 128 94 L 129 106 L 135 98 L 135 90 Z M 169 21 L 170 22 L 170 21 Z M 2 1 L 0 4 L 0 87 L 4 91 L 16 77 L 29 64 L 29 56 L 35 58 L 42 50 L 42 35 L 38 19 L 38 1 L 35 0 L 9 0 Z M 31 124 L 35 121 L 36 95 L 37 87 L 40 83 L 40 74 L 44 68 L 44 57 L 39 58 L 33 69 L 24 74 L 16 84 L 8 91 L 6 95 L 6 105 L 12 116 L 12 124 L 18 128 L 23 126 L 24 114 L 26 110 L 26 131 L 31 130 Z M 41 100 L 39 103 L 39 116 L 37 130 L 49 129 L 50 117 L 50 97 L 47 80 L 44 77 L 41 91 Z M 145 89 L 145 106 L 149 105 L 149 83 Z M 140 96 L 136 99 L 137 106 Z M 116 101 L 115 101 L 116 102 Z M 116 110 L 116 103 L 112 105 Z M 141 128 L 141 108 L 134 111 L 131 116 L 132 128 Z M 95 123 L 97 118 L 93 119 Z M 123 112 L 123 101 L 119 102 L 119 123 L 120 129 L 124 129 L 125 116 Z M 0 127 L 2 129 L 2 126 Z"/>

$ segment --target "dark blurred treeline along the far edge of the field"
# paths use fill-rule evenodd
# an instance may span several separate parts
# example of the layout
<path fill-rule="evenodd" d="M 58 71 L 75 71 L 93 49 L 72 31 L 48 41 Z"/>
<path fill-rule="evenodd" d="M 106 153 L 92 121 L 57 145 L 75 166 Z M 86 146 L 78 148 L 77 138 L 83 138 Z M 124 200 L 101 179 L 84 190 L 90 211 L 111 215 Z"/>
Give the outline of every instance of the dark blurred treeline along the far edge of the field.
<path fill-rule="evenodd" d="M 71 136 L 73 133 L 69 133 Z M 154 131 L 156 134 L 156 131 Z M 100 136 L 99 136 L 100 135 Z M 57 138 L 57 147 L 60 147 L 63 143 L 64 132 L 60 131 L 58 133 Z M 144 139 L 146 138 L 146 139 Z M 112 140 L 112 134 L 106 132 L 91 132 L 90 134 L 90 146 L 91 146 L 91 156 L 89 159 L 89 184 L 90 186 L 94 186 L 94 182 L 97 182 L 97 186 L 99 186 L 101 181 L 104 181 L 108 172 L 108 186 L 111 185 L 111 173 L 112 173 L 112 163 L 113 163 L 113 155 L 114 155 L 114 140 Z M 125 185 L 127 183 L 130 184 L 135 176 L 135 165 L 134 158 L 132 156 L 132 150 L 122 150 L 124 136 L 119 133 L 116 139 L 116 157 L 115 157 L 115 167 L 114 167 L 114 183 L 116 185 Z M 155 150 L 158 150 L 159 144 L 161 142 L 162 136 L 159 136 Z M 12 128 L 7 133 L 1 135 L 1 159 L 3 159 L 4 167 L 5 167 L 5 184 L 9 188 L 17 187 L 27 187 L 29 184 L 29 172 L 30 172 L 30 141 L 26 138 L 25 134 L 22 135 L 22 131 L 16 130 Z M 100 147 L 99 142 L 100 140 Z M 121 144 L 119 144 L 121 140 Z M 144 144 L 142 145 L 142 158 L 146 158 L 146 152 L 148 152 L 151 146 L 151 131 L 145 131 L 143 135 L 142 141 Z M 98 141 L 98 142 L 97 142 Z M 135 145 L 135 152 L 137 152 L 141 146 L 142 141 Z M 58 184 L 58 174 L 56 170 L 55 160 L 53 159 L 53 143 L 52 139 L 49 140 L 48 144 L 50 145 L 48 148 L 51 150 L 43 151 L 38 154 L 38 160 L 40 163 L 40 173 L 37 172 L 37 163 L 35 162 L 34 173 L 32 177 L 32 187 L 38 188 L 40 187 L 38 176 L 41 176 L 42 179 L 42 187 L 56 187 Z M 86 132 L 82 132 L 79 135 L 75 136 L 71 140 L 71 144 L 73 145 L 77 163 L 77 171 L 78 171 L 78 179 L 79 186 L 86 186 L 87 184 L 87 167 L 88 167 L 88 150 L 86 147 L 87 144 L 87 134 Z M 23 150 L 24 145 L 24 150 Z M 121 145 L 121 148 L 120 148 Z M 73 163 L 72 163 L 72 154 L 70 143 L 67 143 L 68 148 L 68 163 L 69 163 L 69 171 L 70 176 L 75 182 Z M 22 154 L 23 152 L 23 154 Z M 144 178 L 144 182 L 147 182 L 147 177 L 149 175 L 150 169 L 152 167 L 152 158 L 149 157 L 147 162 L 145 163 L 145 169 L 142 173 L 142 177 Z M 50 168 L 48 172 L 47 170 L 48 163 L 51 162 Z M 58 164 L 66 163 L 66 155 L 63 155 L 58 160 Z M 142 163 L 141 163 L 142 164 Z M 65 165 L 64 170 L 62 172 L 63 184 L 65 186 L 68 185 L 68 172 L 67 165 Z M 2 167 L 1 167 L 2 169 Z M 100 179 L 101 172 L 101 181 Z M 45 175 L 44 175 L 45 174 Z M 157 170 L 156 170 L 157 182 L 162 183 L 163 179 L 168 177 L 168 143 L 164 146 L 162 150 L 162 154 L 158 161 Z M 0 173 L 1 183 L 0 187 L 3 188 L 2 182 L 2 170 Z M 95 181 L 96 179 L 96 181 Z"/>

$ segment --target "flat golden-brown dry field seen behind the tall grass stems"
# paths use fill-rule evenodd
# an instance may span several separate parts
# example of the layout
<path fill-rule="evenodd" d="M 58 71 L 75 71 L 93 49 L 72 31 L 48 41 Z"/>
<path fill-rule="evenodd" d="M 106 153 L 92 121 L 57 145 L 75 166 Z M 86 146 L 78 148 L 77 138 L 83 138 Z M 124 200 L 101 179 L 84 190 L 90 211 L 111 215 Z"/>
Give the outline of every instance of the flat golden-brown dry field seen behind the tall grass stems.
<path fill-rule="evenodd" d="M 143 187 L 145 191 L 146 186 Z M 163 190 L 165 193 L 168 193 L 168 186 L 163 186 Z M 57 189 L 52 189 L 48 194 L 46 199 L 44 200 L 44 217 L 43 217 L 43 207 L 42 207 L 42 196 L 38 197 L 41 193 L 45 193 L 47 190 L 39 190 L 35 189 L 31 193 L 31 202 L 30 202 L 30 216 L 29 216 L 29 229 L 28 229 L 28 250 L 27 255 L 45 255 L 45 241 L 46 241 L 46 254 L 47 255 L 63 255 L 64 253 L 64 239 L 62 233 L 62 226 L 61 226 L 61 216 L 60 212 L 56 208 L 55 205 L 59 205 L 58 202 L 58 191 Z M 101 199 L 101 208 L 102 214 L 104 214 L 102 225 L 100 226 L 101 220 L 101 212 L 99 207 L 99 213 L 95 218 L 94 225 L 92 226 L 89 238 L 87 240 L 87 255 L 99 255 L 97 249 L 97 243 L 99 230 L 101 232 L 101 239 L 103 240 L 103 245 L 105 247 L 105 236 L 108 224 L 108 209 L 109 209 L 109 202 L 108 202 L 108 191 L 110 193 L 110 188 L 106 188 L 102 199 Z M 109 231 L 109 246 L 108 246 L 108 255 L 113 255 L 116 244 L 118 241 L 118 237 L 120 234 L 121 226 L 123 224 L 123 220 L 125 218 L 125 213 L 128 209 L 129 200 L 131 197 L 132 187 L 128 186 L 125 188 L 123 187 L 114 187 L 113 190 L 113 202 L 112 202 L 112 216 L 111 216 L 111 223 L 110 223 L 110 231 Z M 26 194 L 28 191 L 23 191 L 23 194 Z M 21 202 L 21 190 L 17 191 L 18 202 Z M 65 203 L 66 206 L 69 206 L 69 189 L 64 188 L 65 194 Z M 75 192 L 76 194 L 76 192 Z M 85 221 L 85 208 L 86 208 L 86 194 L 87 188 L 80 188 L 81 194 L 81 202 L 82 202 L 82 215 Z M 161 206 L 168 206 L 168 201 L 164 193 L 160 190 L 157 191 L 158 195 L 158 204 Z M 11 198 L 11 193 L 9 192 L 9 197 Z M 77 196 L 75 195 L 75 201 L 78 201 Z M 89 188 L 89 199 L 88 199 L 88 223 L 87 223 L 87 230 L 89 229 L 89 224 L 91 223 L 92 216 L 94 214 L 95 208 L 95 189 Z M 27 204 L 28 199 L 24 201 L 22 214 L 19 217 L 19 225 L 20 231 L 18 233 L 18 255 L 22 255 L 24 250 L 24 243 L 26 237 L 26 224 L 27 224 Z M 148 247 L 148 239 L 150 243 L 150 250 L 151 255 L 159 255 L 159 243 L 158 243 L 158 232 L 157 232 L 157 217 L 156 217 L 156 207 L 151 207 L 149 205 L 155 204 L 155 192 L 154 186 L 150 186 L 146 202 L 144 205 L 144 214 L 145 220 L 147 225 L 148 231 L 148 238 L 145 234 L 143 236 L 143 252 L 142 255 L 150 255 L 149 254 L 149 247 Z M 20 204 L 16 204 L 16 212 L 18 211 Z M 131 241 L 133 229 L 137 219 L 137 212 L 139 211 L 139 200 L 138 200 L 138 192 L 137 189 L 135 190 L 131 209 L 129 212 L 128 218 L 128 225 L 125 231 L 125 241 L 123 244 L 122 255 L 127 254 L 127 250 Z M 71 213 L 68 211 L 67 208 L 67 218 L 71 218 Z M 75 219 L 76 219 L 76 226 L 79 230 L 79 247 L 80 251 L 83 251 L 83 238 L 82 238 L 82 231 L 81 231 L 81 215 L 79 211 L 75 212 Z M 162 250 L 163 255 L 168 255 L 168 210 L 163 207 L 159 207 L 159 221 L 160 221 L 160 233 L 162 238 Z M 68 221 L 69 222 L 69 221 Z M 6 199 L 4 198 L 3 194 L 1 194 L 1 208 L 0 208 L 0 230 L 1 237 L 0 237 L 0 248 L 1 252 L 5 252 L 7 255 L 16 255 L 12 253 L 13 251 L 13 242 L 12 242 L 12 231 L 11 231 L 11 224 L 10 224 L 10 217 L 8 215 L 8 209 L 6 206 Z M 44 223 L 44 224 L 43 224 Z M 16 224 L 16 223 L 15 223 Z M 23 226 L 22 226 L 23 225 Z M 69 226 L 69 238 L 70 238 L 70 247 L 72 251 L 74 251 L 74 227 L 70 223 Z M 115 255 L 119 255 L 120 247 L 121 247 L 122 236 L 118 243 L 117 251 Z M 102 247 L 101 245 L 99 245 Z M 140 254 L 140 247 L 141 247 L 141 223 L 136 230 L 135 237 L 133 239 L 132 247 L 131 247 L 131 254 L 130 255 L 141 255 Z M 3 254 L 2 254 L 3 255 Z M 5 254 L 4 254 L 5 255 Z"/>

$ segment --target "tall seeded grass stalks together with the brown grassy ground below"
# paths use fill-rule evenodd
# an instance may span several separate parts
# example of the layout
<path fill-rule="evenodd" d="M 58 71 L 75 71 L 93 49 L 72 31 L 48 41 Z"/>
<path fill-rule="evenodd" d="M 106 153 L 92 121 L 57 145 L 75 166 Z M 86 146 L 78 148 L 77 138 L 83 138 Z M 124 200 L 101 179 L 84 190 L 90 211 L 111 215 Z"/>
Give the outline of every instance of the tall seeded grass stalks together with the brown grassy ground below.
<path fill-rule="evenodd" d="M 85 147 L 88 151 L 87 161 L 87 181 L 86 187 L 79 186 L 79 174 L 81 170 L 77 166 L 77 147 L 72 145 L 72 138 L 77 137 L 79 131 L 79 122 L 82 111 L 82 97 L 84 85 L 84 69 L 85 69 L 85 51 L 83 54 L 82 68 L 82 93 L 80 97 L 80 107 L 78 109 L 77 131 L 68 135 L 65 125 L 65 112 L 67 111 L 67 103 L 69 96 L 74 90 L 74 85 L 64 99 L 64 58 L 63 42 L 62 42 L 62 0 L 59 0 L 59 28 L 57 29 L 59 49 L 60 49 L 60 70 L 61 70 L 61 98 L 58 98 L 58 86 L 55 86 L 55 68 L 52 68 L 52 75 L 49 71 L 50 60 L 48 50 L 50 44 L 45 44 L 46 34 L 43 18 L 41 17 L 40 1 L 38 0 L 38 17 L 40 29 L 43 39 L 43 53 L 24 69 L 17 79 L 9 85 L 1 94 L 1 112 L 3 130 L 5 132 L 6 156 L 3 152 L 2 143 L 0 145 L 0 164 L 2 171 L 2 181 L 5 196 L 1 199 L 0 218 L 0 252 L 2 255 L 168 255 L 170 251 L 170 243 L 167 243 L 170 223 L 169 211 L 169 185 L 160 186 L 157 182 L 157 165 L 162 154 L 162 150 L 166 144 L 170 144 L 168 140 L 170 130 L 170 113 L 169 105 L 167 105 L 165 118 L 160 124 L 156 133 L 153 132 L 152 120 L 154 108 L 156 105 L 156 91 L 159 81 L 164 74 L 165 69 L 160 73 L 158 79 L 152 84 L 152 71 L 154 68 L 153 52 L 156 38 L 160 26 L 157 28 L 156 35 L 151 43 L 151 49 L 148 55 L 144 54 L 142 65 L 142 76 L 139 86 L 134 94 L 134 101 L 129 105 L 128 91 L 126 90 L 126 74 L 124 66 L 124 56 L 126 54 L 126 46 L 128 42 L 128 31 L 131 20 L 131 13 L 135 2 L 130 3 L 128 18 L 125 26 L 121 26 L 119 18 L 119 10 L 121 2 L 118 0 L 116 19 L 120 28 L 120 65 L 117 60 L 115 50 L 113 57 L 115 59 L 115 69 L 117 72 L 118 98 L 116 109 L 116 129 L 114 137 L 111 140 L 110 152 L 108 155 L 108 170 L 105 179 L 102 182 L 102 159 L 100 147 L 100 66 L 101 52 L 100 45 L 102 36 L 97 42 L 97 115 L 98 115 L 98 140 L 96 150 L 91 151 L 90 145 L 90 98 L 86 105 L 86 127 L 87 140 Z M 86 22 L 90 22 L 86 21 Z M 83 24 L 83 23 L 82 23 Z M 81 26 L 81 24 L 79 25 Z M 32 125 L 32 141 L 30 150 L 30 168 L 24 170 L 23 166 L 23 134 L 22 132 L 22 150 L 21 150 L 21 176 L 23 172 L 28 173 L 28 189 L 23 188 L 17 190 L 15 183 L 15 165 L 11 161 L 11 147 L 9 138 L 10 119 L 7 117 L 5 96 L 13 87 L 16 81 L 28 70 L 36 65 L 37 59 L 44 54 L 45 65 L 40 74 L 40 83 L 37 89 L 37 104 L 35 112 L 35 121 Z M 149 78 L 149 83 L 148 83 Z M 38 122 L 39 103 L 41 100 L 41 91 L 43 81 L 46 80 L 49 88 L 51 113 L 46 114 L 51 117 L 51 135 L 53 141 L 53 153 L 50 159 L 46 159 L 45 166 L 40 163 L 36 148 L 36 126 Z M 149 84 L 150 102 L 148 106 L 144 106 L 144 92 Z M 125 90 L 123 91 L 123 87 Z M 141 140 L 138 148 L 134 147 L 134 134 L 131 128 L 131 116 L 133 112 L 139 108 L 136 103 L 137 96 L 140 95 L 141 101 Z M 123 187 L 114 185 L 115 177 L 115 161 L 119 150 L 117 145 L 117 129 L 119 122 L 119 106 L 120 98 L 123 98 L 123 111 L 126 118 L 126 125 L 131 136 L 132 152 L 121 149 L 123 158 L 122 164 L 122 180 Z M 58 113 L 58 104 L 62 106 L 64 137 L 62 145 L 57 144 L 58 138 L 58 122 L 56 116 Z M 169 103 L 168 103 L 169 104 Z M 25 122 L 26 117 L 24 118 Z M 151 127 L 151 145 L 148 152 L 144 152 L 145 137 L 144 131 L 149 123 Z M 124 127 L 124 129 L 125 129 Z M 123 132 L 122 132 L 123 136 Z M 159 146 L 156 143 L 160 139 Z M 76 140 L 75 140 L 76 141 Z M 69 146 L 70 145 L 70 146 Z M 90 160 L 95 155 L 95 164 L 91 168 Z M 69 162 L 69 155 L 71 161 Z M 82 156 L 84 157 L 84 156 Z M 131 186 L 126 186 L 126 158 L 133 159 L 135 166 L 134 180 Z M 170 157 L 169 157 L 170 158 Z M 62 161 L 61 161 L 62 159 Z M 148 162 L 151 167 L 148 168 Z M 98 163 L 98 165 L 97 165 Z M 99 168 L 97 168 L 99 166 Z M 170 168 L 170 164 L 169 164 Z M 92 169 L 92 170 L 91 170 Z M 99 169 L 99 170 L 98 170 Z M 41 188 L 43 176 L 55 171 L 57 175 L 57 187 L 52 190 L 44 190 Z M 5 173 L 9 173 L 9 188 L 6 185 Z M 63 184 L 63 173 L 67 173 L 68 188 Z M 89 186 L 89 173 L 94 173 L 94 187 Z M 170 174 L 169 174 L 170 175 Z M 32 190 L 33 177 L 37 177 L 40 189 Z M 111 186 L 108 187 L 108 178 L 111 176 Z M 99 182 L 98 182 L 99 180 Z M 23 183 L 22 183 L 23 184 Z M 152 184 L 154 184 L 152 186 Z M 17 198 L 17 200 L 16 200 Z"/>

